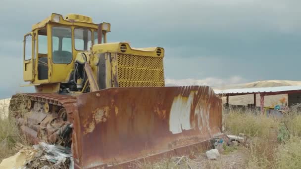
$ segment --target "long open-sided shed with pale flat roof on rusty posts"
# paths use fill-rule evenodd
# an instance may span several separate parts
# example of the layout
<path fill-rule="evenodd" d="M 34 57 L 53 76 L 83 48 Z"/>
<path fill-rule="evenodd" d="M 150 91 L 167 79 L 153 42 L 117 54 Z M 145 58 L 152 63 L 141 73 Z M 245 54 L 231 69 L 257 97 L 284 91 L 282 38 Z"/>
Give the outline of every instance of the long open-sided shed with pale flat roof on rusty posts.
<path fill-rule="evenodd" d="M 290 85 L 280 87 L 259 87 L 259 88 L 237 88 L 237 89 L 215 89 L 214 92 L 219 96 L 227 97 L 227 104 L 229 104 L 230 96 L 238 95 L 254 95 L 254 104 L 256 105 L 256 94 L 260 95 L 260 111 L 264 112 L 264 96 L 288 94 L 288 106 L 301 103 L 301 85 Z"/>

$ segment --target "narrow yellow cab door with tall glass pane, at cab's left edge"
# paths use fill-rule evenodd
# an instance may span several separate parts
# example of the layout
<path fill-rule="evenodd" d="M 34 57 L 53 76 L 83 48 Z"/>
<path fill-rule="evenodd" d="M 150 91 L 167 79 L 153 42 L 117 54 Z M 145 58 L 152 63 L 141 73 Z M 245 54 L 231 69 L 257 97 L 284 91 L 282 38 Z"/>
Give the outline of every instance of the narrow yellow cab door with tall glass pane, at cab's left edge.
<path fill-rule="evenodd" d="M 34 80 L 34 41 L 33 33 L 24 36 L 24 50 L 23 50 L 23 80 Z"/>

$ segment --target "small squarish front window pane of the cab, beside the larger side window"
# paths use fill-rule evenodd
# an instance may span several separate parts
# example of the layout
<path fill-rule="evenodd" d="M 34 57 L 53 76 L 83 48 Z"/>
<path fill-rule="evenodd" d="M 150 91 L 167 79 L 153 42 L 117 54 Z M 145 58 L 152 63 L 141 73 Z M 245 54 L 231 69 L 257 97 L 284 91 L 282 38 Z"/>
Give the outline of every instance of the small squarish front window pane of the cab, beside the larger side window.
<path fill-rule="evenodd" d="M 74 46 L 76 50 L 90 50 L 92 47 L 92 35 L 88 29 L 74 29 Z"/>

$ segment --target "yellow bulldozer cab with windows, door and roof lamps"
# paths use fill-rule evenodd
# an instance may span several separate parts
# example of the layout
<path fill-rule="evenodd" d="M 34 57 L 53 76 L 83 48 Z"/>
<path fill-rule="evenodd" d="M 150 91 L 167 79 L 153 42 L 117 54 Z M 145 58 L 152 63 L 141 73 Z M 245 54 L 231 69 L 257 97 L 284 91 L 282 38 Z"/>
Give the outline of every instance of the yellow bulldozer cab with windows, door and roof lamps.
<path fill-rule="evenodd" d="M 95 24 L 78 14 L 51 14 L 24 36 L 23 79 L 33 85 L 66 83 L 79 52 L 106 43 L 109 23 Z M 100 32 L 100 33 L 99 33 Z"/>

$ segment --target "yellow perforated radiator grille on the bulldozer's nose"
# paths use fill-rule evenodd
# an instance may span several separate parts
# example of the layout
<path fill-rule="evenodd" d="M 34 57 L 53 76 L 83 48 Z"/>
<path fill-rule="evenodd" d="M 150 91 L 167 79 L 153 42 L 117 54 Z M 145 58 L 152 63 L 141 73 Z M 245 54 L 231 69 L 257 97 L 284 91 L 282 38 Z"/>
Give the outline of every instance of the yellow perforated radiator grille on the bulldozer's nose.
<path fill-rule="evenodd" d="M 162 57 L 117 55 L 120 87 L 164 86 Z"/>

